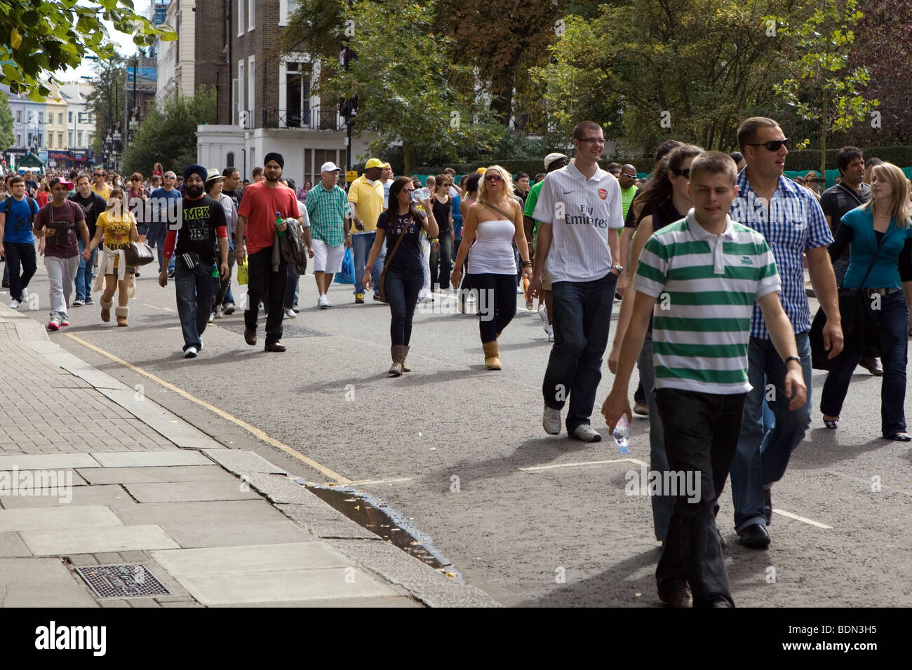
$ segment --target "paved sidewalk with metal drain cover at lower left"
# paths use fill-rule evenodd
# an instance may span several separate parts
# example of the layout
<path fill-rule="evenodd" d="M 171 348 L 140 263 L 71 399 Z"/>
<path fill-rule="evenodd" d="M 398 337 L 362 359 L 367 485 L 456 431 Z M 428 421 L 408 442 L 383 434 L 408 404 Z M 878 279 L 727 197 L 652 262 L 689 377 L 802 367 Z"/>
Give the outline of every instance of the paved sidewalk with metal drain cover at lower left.
<path fill-rule="evenodd" d="M 31 315 L 0 304 L 0 607 L 497 605 Z"/>

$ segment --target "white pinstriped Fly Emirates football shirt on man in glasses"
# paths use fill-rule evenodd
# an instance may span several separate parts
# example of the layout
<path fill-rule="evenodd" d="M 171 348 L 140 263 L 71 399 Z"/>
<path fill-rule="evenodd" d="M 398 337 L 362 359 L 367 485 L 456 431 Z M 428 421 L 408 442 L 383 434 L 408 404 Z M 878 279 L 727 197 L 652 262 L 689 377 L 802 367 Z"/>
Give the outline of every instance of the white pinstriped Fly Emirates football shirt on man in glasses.
<path fill-rule="evenodd" d="M 624 227 L 620 184 L 597 167 L 587 180 L 571 160 L 544 178 L 533 218 L 553 226 L 545 262 L 551 281 L 594 282 L 611 269 L 608 231 Z"/>

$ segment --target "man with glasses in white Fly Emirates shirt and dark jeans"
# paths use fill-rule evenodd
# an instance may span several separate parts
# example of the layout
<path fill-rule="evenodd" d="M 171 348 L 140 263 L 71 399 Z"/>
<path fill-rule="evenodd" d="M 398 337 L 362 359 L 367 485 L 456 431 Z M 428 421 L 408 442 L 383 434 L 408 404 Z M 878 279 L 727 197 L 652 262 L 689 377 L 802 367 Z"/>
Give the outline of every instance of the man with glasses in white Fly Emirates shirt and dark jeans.
<path fill-rule="evenodd" d="M 529 293 L 542 290 L 542 270 L 551 275 L 554 346 L 544 373 L 542 425 L 561 432 L 567 397 L 567 433 L 584 442 L 602 436 L 589 425 L 602 356 L 608 343 L 617 277 L 624 272 L 617 232 L 624 227 L 617 179 L 598 167 L 605 136 L 594 121 L 573 132 L 575 159 L 544 178 L 533 218 L 539 221 Z"/>

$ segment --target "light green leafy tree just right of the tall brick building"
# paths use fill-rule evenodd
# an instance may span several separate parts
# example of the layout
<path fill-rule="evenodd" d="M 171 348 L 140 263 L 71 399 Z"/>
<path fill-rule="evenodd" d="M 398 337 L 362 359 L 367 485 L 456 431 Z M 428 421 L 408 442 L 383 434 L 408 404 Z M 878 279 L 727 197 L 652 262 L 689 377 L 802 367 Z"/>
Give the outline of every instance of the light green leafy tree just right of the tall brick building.
<path fill-rule="evenodd" d="M 325 6 L 326 0 L 301 0 L 280 44 L 321 58 L 315 88 L 323 104 L 358 96 L 354 132 L 377 134 L 372 151 L 402 142 L 410 172 L 425 157 L 455 160 L 467 144 L 494 146 L 503 126 L 487 112 L 472 69 L 451 62 L 450 38 L 430 29 L 432 7 L 352 0 L 334 15 L 340 22 L 329 25 L 319 14 Z M 358 55 L 347 70 L 338 63 L 346 39 Z"/>

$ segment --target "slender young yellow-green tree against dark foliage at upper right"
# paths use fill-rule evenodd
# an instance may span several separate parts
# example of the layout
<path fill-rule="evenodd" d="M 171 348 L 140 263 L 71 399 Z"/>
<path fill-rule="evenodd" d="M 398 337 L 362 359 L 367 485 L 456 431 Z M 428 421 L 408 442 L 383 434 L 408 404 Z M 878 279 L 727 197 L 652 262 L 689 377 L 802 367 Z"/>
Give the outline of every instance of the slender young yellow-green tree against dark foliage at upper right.
<path fill-rule="evenodd" d="M 848 66 L 854 28 L 862 17 L 857 5 L 856 0 L 826 0 L 803 22 L 790 24 L 779 19 L 782 34 L 789 39 L 788 52 L 793 55 L 796 75 L 773 88 L 799 118 L 819 129 L 821 174 L 826 170 L 827 137 L 834 131 L 851 129 L 880 104 L 859 92 L 870 80 L 868 68 Z"/>

